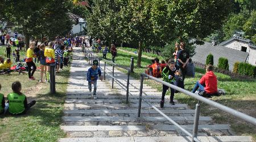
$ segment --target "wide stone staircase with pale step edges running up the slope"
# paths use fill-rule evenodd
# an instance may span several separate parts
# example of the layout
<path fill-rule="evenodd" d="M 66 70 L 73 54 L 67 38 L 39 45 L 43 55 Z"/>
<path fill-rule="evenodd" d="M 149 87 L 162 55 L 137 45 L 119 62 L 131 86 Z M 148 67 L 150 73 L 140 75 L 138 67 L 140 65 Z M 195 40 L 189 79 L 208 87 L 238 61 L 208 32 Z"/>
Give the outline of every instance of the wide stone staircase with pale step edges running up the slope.
<path fill-rule="evenodd" d="M 126 104 L 125 87 L 106 76 L 97 81 L 97 98 L 89 92 L 86 72 L 90 68 L 84 60 L 81 48 L 73 48 L 71 75 L 65 100 L 63 125 L 67 138 L 59 141 L 191 141 L 176 126 L 168 122 L 151 106 L 142 102 L 141 117 L 138 118 L 138 94 L 133 86 L 129 87 L 129 103 Z M 102 63 L 102 62 L 101 62 Z M 101 64 L 103 66 L 104 64 Z M 112 70 L 112 66 L 106 66 Z M 103 74 L 103 73 L 102 73 Z M 126 84 L 127 75 L 115 69 L 115 76 Z M 139 88 L 139 80 L 130 77 L 130 83 Z M 143 91 L 147 101 L 160 108 L 161 92 L 144 84 Z M 161 110 L 183 128 L 192 132 L 195 110 L 186 104 L 168 104 L 169 96 Z M 252 141 L 250 136 L 234 136 L 228 124 L 214 124 L 208 116 L 200 116 L 199 139 L 201 141 Z"/>

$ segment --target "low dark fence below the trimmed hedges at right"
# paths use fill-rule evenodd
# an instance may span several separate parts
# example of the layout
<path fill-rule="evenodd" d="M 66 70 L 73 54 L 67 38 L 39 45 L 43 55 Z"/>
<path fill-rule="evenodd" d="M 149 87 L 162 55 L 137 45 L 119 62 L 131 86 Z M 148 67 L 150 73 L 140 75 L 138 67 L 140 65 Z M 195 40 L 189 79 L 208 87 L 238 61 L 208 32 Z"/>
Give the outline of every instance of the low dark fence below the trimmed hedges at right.
<path fill-rule="evenodd" d="M 195 64 L 195 66 L 197 68 L 205 69 L 205 67 L 207 66 L 206 64 L 203 64 L 201 62 L 196 62 L 196 61 L 192 61 L 192 62 L 193 62 L 193 64 Z M 231 78 L 238 79 L 238 80 L 254 80 L 254 79 L 256 79 L 256 77 L 241 75 L 238 73 L 231 72 L 230 70 L 216 68 L 215 66 L 214 66 L 213 71 L 217 72 L 217 73 L 222 73 L 222 74 L 228 75 Z"/>

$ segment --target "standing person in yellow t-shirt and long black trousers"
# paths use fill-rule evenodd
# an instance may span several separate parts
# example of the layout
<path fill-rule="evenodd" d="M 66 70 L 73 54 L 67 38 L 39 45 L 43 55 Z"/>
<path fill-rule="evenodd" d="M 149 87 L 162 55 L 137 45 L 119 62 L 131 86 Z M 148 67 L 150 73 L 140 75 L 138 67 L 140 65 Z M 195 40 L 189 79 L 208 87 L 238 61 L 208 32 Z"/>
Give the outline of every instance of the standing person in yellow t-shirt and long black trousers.
<path fill-rule="evenodd" d="M 33 57 L 36 57 L 34 54 L 34 48 L 35 48 L 35 42 L 30 43 L 30 47 L 27 49 L 27 54 L 26 54 L 26 63 L 28 66 L 28 78 L 29 80 L 35 80 L 33 77 L 35 70 L 36 70 L 36 65 L 33 61 Z M 33 67 L 33 69 L 31 69 Z M 32 70 L 32 73 L 31 73 Z"/>

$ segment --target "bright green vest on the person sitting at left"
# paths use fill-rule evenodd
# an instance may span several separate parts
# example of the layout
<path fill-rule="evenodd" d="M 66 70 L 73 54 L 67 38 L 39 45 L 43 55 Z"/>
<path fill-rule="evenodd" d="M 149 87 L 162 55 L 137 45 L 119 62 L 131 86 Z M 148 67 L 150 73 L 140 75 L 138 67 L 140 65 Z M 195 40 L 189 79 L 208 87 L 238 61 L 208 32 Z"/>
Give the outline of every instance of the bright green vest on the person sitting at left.
<path fill-rule="evenodd" d="M 9 112 L 11 114 L 20 114 L 25 110 L 24 101 L 26 95 L 19 95 L 17 93 L 10 93 L 7 96 L 9 100 Z"/>

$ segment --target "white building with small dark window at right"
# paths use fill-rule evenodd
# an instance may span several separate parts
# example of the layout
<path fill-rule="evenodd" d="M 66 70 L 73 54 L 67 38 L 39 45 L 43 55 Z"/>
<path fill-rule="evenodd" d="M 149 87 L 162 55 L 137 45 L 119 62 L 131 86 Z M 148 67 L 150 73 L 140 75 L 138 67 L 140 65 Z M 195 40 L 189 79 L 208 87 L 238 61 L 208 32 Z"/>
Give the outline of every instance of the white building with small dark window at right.
<path fill-rule="evenodd" d="M 256 65 L 256 45 L 249 39 L 233 36 L 231 39 L 226 40 L 219 45 L 249 53 L 246 61 L 251 65 Z"/>

